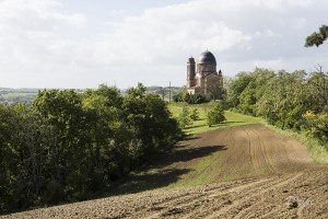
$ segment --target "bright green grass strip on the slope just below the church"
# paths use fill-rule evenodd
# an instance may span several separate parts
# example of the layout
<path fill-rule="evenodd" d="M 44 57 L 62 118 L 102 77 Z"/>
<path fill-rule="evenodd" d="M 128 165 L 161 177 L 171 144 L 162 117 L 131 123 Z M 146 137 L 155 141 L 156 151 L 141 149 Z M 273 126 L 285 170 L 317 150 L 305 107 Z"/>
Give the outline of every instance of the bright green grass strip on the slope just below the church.
<path fill-rule="evenodd" d="M 206 117 L 207 117 L 207 113 L 209 111 L 211 111 L 213 107 L 212 103 L 195 104 L 195 105 L 187 105 L 187 104 L 183 104 L 183 103 L 172 103 L 168 105 L 168 108 L 172 112 L 174 117 L 178 117 L 178 115 L 181 113 L 184 106 L 189 107 L 189 110 L 198 108 L 199 117 L 200 117 L 200 119 L 194 120 L 192 125 L 190 125 L 184 129 L 184 131 L 187 135 L 207 132 L 207 131 L 211 131 L 211 130 L 230 128 L 230 127 L 235 127 L 235 126 L 244 126 L 244 125 L 250 125 L 250 124 L 265 123 L 265 120 L 259 117 L 253 117 L 253 116 L 247 116 L 247 115 L 243 115 L 243 114 L 235 113 L 235 112 L 225 111 L 224 115 L 225 115 L 226 120 L 223 122 L 222 124 L 209 127 L 206 124 Z"/>

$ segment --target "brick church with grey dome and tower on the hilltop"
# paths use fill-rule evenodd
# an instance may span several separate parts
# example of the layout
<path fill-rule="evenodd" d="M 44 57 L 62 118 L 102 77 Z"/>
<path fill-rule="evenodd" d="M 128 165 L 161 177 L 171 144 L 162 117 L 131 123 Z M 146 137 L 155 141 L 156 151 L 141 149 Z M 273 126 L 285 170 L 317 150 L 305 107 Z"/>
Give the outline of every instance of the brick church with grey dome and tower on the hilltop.
<path fill-rule="evenodd" d="M 216 71 L 216 59 L 214 55 L 206 50 L 197 64 L 194 57 L 187 62 L 187 92 L 189 94 L 201 94 L 208 100 L 222 99 L 222 72 Z"/>

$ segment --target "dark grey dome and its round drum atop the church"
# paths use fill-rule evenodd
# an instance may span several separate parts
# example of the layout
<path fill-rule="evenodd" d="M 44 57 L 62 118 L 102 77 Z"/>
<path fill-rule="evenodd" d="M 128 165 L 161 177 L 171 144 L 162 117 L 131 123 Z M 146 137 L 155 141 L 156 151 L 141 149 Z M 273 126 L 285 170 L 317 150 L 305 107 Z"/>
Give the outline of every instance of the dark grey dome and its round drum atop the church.
<path fill-rule="evenodd" d="M 210 73 L 216 73 L 216 60 L 211 51 L 206 50 L 200 54 L 197 62 L 197 73 L 199 77 L 207 77 Z"/>

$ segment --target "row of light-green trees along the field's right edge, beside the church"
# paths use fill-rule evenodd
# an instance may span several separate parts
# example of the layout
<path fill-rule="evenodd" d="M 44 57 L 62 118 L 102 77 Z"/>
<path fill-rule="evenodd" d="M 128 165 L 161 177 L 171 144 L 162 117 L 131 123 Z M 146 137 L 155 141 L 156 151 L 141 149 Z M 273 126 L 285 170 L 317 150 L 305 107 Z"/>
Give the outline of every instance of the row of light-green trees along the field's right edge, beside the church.
<path fill-rule="evenodd" d="M 262 116 L 283 129 L 306 130 L 328 140 L 328 74 L 255 69 L 241 72 L 229 84 L 226 104 Z"/>

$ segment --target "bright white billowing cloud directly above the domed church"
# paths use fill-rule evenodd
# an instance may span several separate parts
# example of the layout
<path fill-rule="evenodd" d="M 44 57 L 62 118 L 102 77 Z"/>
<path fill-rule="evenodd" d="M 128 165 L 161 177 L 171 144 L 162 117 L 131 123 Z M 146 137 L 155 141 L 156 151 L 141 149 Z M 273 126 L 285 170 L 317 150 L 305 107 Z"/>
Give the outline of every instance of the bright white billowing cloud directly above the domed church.
<path fill-rule="evenodd" d="M 103 35 L 96 54 L 110 65 L 178 64 L 185 54 L 206 48 L 227 50 L 250 39 L 239 30 L 213 20 L 218 12 L 202 1 L 147 10 L 141 16 L 127 18 L 113 33 Z"/>

